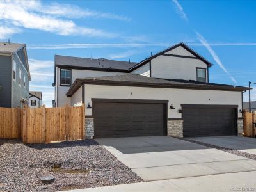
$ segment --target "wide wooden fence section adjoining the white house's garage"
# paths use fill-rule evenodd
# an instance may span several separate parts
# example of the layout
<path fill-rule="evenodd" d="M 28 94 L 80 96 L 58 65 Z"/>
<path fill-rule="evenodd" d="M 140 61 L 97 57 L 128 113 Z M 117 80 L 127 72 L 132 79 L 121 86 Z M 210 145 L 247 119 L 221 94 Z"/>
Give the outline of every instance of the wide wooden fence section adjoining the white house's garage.
<path fill-rule="evenodd" d="M 84 104 L 81 107 L 22 109 L 23 143 L 81 140 L 85 137 Z"/>

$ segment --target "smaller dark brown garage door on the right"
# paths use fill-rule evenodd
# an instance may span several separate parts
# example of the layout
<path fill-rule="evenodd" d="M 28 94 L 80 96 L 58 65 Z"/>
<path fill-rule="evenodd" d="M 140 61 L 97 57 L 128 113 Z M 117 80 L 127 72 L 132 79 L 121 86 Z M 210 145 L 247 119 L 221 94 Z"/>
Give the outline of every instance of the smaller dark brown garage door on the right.
<path fill-rule="evenodd" d="M 225 136 L 235 134 L 235 108 L 182 106 L 183 136 Z"/>

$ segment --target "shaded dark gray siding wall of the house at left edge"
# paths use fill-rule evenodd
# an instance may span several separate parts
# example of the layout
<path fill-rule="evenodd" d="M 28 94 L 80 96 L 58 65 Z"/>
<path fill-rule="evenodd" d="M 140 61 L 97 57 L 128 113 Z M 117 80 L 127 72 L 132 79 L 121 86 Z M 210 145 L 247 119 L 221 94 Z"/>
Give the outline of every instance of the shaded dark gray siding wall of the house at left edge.
<path fill-rule="evenodd" d="M 11 56 L 0 56 L 0 107 L 11 107 L 11 78 L 12 58 Z"/>

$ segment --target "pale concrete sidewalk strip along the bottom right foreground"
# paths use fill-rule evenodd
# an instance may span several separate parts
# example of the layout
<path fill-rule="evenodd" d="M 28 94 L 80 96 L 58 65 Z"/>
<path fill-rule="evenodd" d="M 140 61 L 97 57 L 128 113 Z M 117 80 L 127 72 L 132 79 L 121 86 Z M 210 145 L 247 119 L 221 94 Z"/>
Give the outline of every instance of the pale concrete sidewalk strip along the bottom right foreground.
<path fill-rule="evenodd" d="M 101 188 L 77 189 L 69 192 L 256 191 L 255 178 L 256 171 L 239 172 L 200 177 L 186 177 L 180 179 L 157 180 Z"/>

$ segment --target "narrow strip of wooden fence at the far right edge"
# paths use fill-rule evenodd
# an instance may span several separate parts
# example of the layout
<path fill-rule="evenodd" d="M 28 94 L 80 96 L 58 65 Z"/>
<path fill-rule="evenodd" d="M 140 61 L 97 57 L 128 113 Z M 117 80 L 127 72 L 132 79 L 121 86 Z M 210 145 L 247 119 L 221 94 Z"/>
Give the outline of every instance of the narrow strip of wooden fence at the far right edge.
<path fill-rule="evenodd" d="M 256 123 L 256 113 L 255 112 L 250 113 L 248 111 L 244 111 L 244 136 L 248 136 L 248 137 L 256 136 L 254 123 Z"/>

